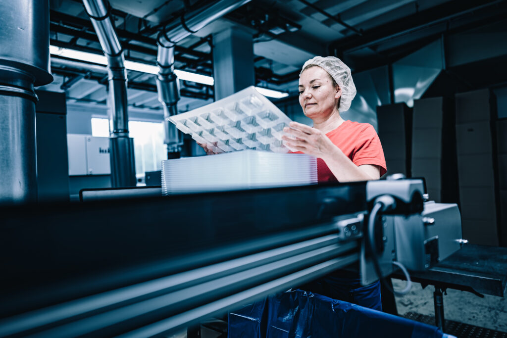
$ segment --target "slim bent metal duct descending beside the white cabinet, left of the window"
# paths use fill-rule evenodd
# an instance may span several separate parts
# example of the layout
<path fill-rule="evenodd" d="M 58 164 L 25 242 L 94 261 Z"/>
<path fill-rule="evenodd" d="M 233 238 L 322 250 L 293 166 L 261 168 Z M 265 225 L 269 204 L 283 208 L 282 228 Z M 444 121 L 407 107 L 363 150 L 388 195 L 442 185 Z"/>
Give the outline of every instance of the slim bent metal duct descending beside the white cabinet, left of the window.
<path fill-rule="evenodd" d="M 135 186 L 134 139 L 129 137 L 127 71 L 123 49 L 110 17 L 107 0 L 83 0 L 86 12 L 107 57 L 111 183 L 113 187 Z"/>

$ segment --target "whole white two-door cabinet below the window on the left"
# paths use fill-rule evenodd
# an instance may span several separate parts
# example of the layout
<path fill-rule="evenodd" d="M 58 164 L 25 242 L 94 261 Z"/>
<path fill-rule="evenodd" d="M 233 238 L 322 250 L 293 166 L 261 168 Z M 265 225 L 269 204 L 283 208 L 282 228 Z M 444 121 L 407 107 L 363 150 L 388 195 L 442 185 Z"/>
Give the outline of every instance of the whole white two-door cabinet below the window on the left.
<path fill-rule="evenodd" d="M 69 176 L 111 174 L 108 137 L 67 134 L 67 145 Z"/>

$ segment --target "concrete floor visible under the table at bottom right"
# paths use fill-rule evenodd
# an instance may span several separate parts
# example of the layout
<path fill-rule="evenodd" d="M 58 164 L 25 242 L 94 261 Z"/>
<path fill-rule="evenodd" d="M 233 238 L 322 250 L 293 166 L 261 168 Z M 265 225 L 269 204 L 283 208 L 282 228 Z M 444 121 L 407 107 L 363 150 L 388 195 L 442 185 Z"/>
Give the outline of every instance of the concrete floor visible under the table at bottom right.
<path fill-rule="evenodd" d="M 392 282 L 395 289 L 405 287 L 405 281 L 393 279 Z M 423 289 L 421 284 L 413 283 L 408 294 L 396 297 L 399 315 L 416 312 L 433 316 L 433 291 L 431 285 Z M 485 295 L 481 298 L 470 292 L 448 289 L 447 295 L 444 294 L 444 316 L 446 320 L 507 332 L 505 297 Z"/>

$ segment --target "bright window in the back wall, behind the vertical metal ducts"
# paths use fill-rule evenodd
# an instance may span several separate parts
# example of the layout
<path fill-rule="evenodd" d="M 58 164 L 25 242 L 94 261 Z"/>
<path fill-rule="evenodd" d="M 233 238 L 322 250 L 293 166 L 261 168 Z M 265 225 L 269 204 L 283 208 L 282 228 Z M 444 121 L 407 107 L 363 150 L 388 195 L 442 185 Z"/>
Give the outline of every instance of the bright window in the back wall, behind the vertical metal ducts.
<path fill-rule="evenodd" d="M 162 123 L 129 121 L 128 128 L 134 138 L 135 172 L 161 170 L 161 161 L 166 159 Z M 109 121 L 92 118 L 92 135 L 108 137 Z"/>

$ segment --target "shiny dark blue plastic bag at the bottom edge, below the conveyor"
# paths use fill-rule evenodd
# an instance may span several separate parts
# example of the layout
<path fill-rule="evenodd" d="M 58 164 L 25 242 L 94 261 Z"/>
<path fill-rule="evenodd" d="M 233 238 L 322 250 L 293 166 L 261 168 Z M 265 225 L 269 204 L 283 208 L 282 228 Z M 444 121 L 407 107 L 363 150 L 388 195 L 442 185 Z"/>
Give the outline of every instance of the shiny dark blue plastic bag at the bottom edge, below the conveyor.
<path fill-rule="evenodd" d="M 229 314 L 229 337 L 441 338 L 442 331 L 319 294 L 288 290 Z M 264 324 L 265 323 L 265 324 Z"/>

